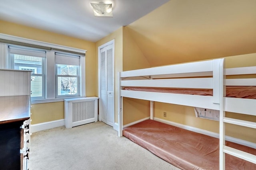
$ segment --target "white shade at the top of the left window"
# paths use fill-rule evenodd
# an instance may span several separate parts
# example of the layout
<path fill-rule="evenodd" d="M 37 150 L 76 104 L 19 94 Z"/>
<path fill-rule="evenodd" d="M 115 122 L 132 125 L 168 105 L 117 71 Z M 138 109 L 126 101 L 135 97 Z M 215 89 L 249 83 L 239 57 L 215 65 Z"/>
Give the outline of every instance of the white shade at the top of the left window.
<path fill-rule="evenodd" d="M 46 51 L 44 50 L 33 50 L 33 49 L 26 50 L 26 49 L 23 49 L 20 47 L 14 47 L 14 46 L 9 46 L 9 49 L 11 54 L 43 57 L 43 58 L 45 58 L 46 56 Z"/>

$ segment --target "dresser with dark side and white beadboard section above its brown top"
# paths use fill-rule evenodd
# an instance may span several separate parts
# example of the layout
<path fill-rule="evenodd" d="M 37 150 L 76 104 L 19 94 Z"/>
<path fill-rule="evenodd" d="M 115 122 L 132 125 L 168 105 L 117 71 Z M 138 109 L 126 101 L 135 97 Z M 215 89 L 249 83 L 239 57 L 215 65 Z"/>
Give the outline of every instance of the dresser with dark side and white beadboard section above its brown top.
<path fill-rule="evenodd" d="M 28 170 L 30 75 L 0 70 L 0 170 Z"/>

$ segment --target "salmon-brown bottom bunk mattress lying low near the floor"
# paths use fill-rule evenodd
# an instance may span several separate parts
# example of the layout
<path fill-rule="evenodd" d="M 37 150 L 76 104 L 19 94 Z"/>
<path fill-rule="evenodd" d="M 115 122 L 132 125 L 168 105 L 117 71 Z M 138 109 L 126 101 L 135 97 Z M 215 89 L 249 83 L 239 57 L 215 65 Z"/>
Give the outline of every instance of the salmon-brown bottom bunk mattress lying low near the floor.
<path fill-rule="evenodd" d="M 180 169 L 219 169 L 217 138 L 154 120 L 146 120 L 126 127 L 123 135 Z M 228 141 L 226 145 L 256 155 L 256 149 Z M 256 164 L 226 154 L 226 170 L 255 169 Z"/>

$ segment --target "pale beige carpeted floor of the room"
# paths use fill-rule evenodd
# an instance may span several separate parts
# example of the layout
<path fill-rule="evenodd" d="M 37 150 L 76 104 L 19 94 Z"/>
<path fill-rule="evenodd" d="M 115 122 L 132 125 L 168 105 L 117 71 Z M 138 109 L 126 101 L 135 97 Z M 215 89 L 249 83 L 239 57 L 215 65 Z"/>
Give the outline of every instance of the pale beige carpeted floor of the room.
<path fill-rule="evenodd" d="M 103 122 L 32 134 L 30 170 L 179 170 Z"/>

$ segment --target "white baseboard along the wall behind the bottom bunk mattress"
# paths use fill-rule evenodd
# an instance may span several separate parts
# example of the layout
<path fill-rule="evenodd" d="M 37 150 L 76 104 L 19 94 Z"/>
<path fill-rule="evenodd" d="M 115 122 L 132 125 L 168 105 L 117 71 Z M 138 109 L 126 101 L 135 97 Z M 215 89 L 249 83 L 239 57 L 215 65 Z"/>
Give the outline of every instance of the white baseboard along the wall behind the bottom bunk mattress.
<path fill-rule="evenodd" d="M 188 126 L 188 125 L 183 125 L 183 124 L 180 124 L 180 123 L 160 119 L 160 118 L 157 118 L 157 117 L 154 117 L 154 120 L 155 121 L 160 121 L 162 123 L 166 123 L 168 125 L 173 125 L 173 126 L 176 126 L 176 127 L 180 127 L 182 129 L 186 129 L 186 130 L 189 130 L 189 131 L 193 131 L 193 132 L 196 132 L 196 133 L 201 133 L 203 135 L 208 135 L 208 136 L 211 136 L 211 137 L 219 138 L 218 133 L 214 133 L 214 132 L 206 131 L 206 130 L 199 129 L 199 128 L 196 128 L 196 127 L 191 127 L 191 126 Z M 256 144 L 252 143 L 252 142 L 244 141 L 242 139 L 237 139 L 237 138 L 230 137 L 230 136 L 226 136 L 225 139 L 226 139 L 226 141 L 238 143 L 240 145 L 244 145 L 244 146 L 256 149 Z"/>

